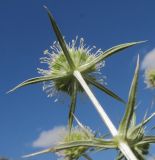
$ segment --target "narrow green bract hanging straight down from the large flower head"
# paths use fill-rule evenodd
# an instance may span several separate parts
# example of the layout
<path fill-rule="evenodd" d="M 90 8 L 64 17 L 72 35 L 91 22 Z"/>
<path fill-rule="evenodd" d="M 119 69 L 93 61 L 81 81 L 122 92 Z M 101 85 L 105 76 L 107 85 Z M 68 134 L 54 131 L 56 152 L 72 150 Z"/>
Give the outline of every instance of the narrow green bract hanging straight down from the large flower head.
<path fill-rule="evenodd" d="M 74 81 L 72 84 L 72 93 L 71 93 L 71 104 L 70 104 L 70 111 L 68 116 L 68 125 L 69 130 L 71 131 L 72 124 L 73 124 L 73 118 L 74 118 L 74 112 L 76 107 L 76 98 L 77 98 L 77 82 Z"/>

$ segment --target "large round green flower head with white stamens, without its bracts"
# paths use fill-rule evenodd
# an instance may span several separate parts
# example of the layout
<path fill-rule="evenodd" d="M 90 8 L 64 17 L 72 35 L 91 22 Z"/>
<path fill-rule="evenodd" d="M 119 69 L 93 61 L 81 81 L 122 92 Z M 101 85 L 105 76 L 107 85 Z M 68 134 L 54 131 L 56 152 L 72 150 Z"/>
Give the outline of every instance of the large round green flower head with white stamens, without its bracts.
<path fill-rule="evenodd" d="M 80 38 L 79 46 L 77 46 L 77 41 L 78 38 L 76 38 L 76 40 L 72 40 L 72 43 L 66 44 L 76 70 L 78 70 L 80 66 L 93 61 L 96 56 L 101 53 L 100 49 L 93 53 L 95 46 L 91 48 L 86 47 L 83 38 Z M 51 51 L 46 50 L 44 52 L 46 57 L 41 58 L 41 63 L 47 63 L 48 69 L 38 69 L 38 72 L 44 76 L 61 76 L 62 74 L 66 76 L 61 79 L 45 82 L 43 90 L 45 90 L 49 96 L 53 96 L 58 91 L 62 91 L 71 95 L 73 87 L 72 84 L 74 81 L 76 81 L 73 76 L 75 69 L 71 69 L 58 42 L 54 42 L 51 46 L 51 49 Z M 104 62 L 99 63 L 84 71 L 82 74 L 91 75 L 93 79 L 96 79 L 97 75 L 100 75 L 100 68 L 103 66 Z M 103 81 L 103 77 L 100 77 L 98 81 Z M 83 91 L 80 85 L 77 88 L 78 91 Z"/>

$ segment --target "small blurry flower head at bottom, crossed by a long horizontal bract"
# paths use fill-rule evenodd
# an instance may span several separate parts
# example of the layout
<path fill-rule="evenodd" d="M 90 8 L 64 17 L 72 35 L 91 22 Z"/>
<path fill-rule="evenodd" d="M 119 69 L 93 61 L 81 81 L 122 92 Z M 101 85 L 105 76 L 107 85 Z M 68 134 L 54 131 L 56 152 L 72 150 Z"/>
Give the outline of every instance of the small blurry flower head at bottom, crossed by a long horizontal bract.
<path fill-rule="evenodd" d="M 72 131 L 64 135 L 64 138 L 61 143 L 70 143 L 70 142 L 77 142 L 82 140 L 91 140 L 93 139 L 94 133 L 89 128 L 80 128 L 80 127 L 73 127 Z M 63 151 L 58 152 L 57 154 L 60 157 L 64 157 L 65 160 L 74 160 L 79 158 L 85 151 L 87 151 L 89 147 L 86 146 L 79 146 L 68 148 Z"/>

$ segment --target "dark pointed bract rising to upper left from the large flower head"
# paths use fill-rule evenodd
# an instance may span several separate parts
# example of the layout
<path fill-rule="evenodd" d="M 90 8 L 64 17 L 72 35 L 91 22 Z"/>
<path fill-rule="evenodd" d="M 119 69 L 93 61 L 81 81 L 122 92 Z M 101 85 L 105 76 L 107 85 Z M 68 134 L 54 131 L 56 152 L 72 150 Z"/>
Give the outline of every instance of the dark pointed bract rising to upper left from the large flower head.
<path fill-rule="evenodd" d="M 46 9 L 46 11 L 48 13 L 48 17 L 49 17 L 50 22 L 52 24 L 52 27 L 53 27 L 54 33 L 55 33 L 55 35 L 57 37 L 57 40 L 59 41 L 61 49 L 63 50 L 63 53 L 64 53 L 69 65 L 70 65 L 70 67 L 72 69 L 74 69 L 75 68 L 74 62 L 73 62 L 73 60 L 72 60 L 72 58 L 71 58 L 71 56 L 69 54 L 69 51 L 68 51 L 68 49 L 66 47 L 66 43 L 65 43 L 65 41 L 64 41 L 64 39 L 62 37 L 60 29 L 58 28 L 58 26 L 57 26 L 57 24 L 56 24 L 56 22 L 55 22 L 55 20 L 54 20 L 54 18 L 52 16 L 52 13 L 50 12 L 50 10 L 46 6 L 44 6 L 44 8 Z"/>

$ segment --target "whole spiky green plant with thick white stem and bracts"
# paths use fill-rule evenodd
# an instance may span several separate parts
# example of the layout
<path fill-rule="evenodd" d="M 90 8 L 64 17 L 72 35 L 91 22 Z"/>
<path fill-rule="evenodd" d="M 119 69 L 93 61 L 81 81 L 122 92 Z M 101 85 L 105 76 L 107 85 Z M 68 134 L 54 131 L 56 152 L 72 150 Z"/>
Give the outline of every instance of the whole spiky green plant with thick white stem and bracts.
<path fill-rule="evenodd" d="M 120 44 L 106 51 L 101 51 L 100 49 L 95 51 L 94 47 L 88 48 L 84 44 L 83 38 L 80 38 L 79 42 L 76 38 L 71 43 L 66 43 L 51 12 L 47 7 L 45 9 L 58 40 L 58 42 L 53 43 L 50 51 L 46 50 L 44 52 L 45 57 L 41 58 L 41 63 L 48 64 L 48 69 L 38 69 L 38 72 L 42 76 L 28 79 L 9 92 L 30 84 L 43 82 L 43 89 L 47 92 L 48 96 L 53 96 L 57 92 L 67 93 L 71 97 L 68 114 L 69 131 L 60 144 L 57 144 L 53 148 L 28 155 L 28 157 L 42 153 L 56 152 L 66 160 L 79 159 L 81 156 L 90 160 L 90 157 L 87 155 L 88 151 L 117 149 L 120 151 L 117 159 L 144 159 L 144 155 L 149 152 L 149 144 L 154 143 L 155 138 L 154 136 L 150 136 L 149 139 L 148 136 L 145 136 L 143 127 L 154 114 L 148 119 L 144 119 L 139 125 L 136 125 L 134 121 L 136 117 L 135 97 L 138 83 L 139 57 L 129 92 L 125 115 L 120 122 L 118 130 L 89 88 L 89 85 L 93 85 L 125 104 L 122 98 L 105 87 L 104 83 L 101 83 L 104 79 L 102 79 L 102 76 L 98 77 L 98 73 L 104 66 L 106 58 L 144 41 Z M 90 130 L 81 125 L 80 122 L 78 122 L 79 128 L 75 129 L 72 126 L 78 92 L 86 92 L 101 119 L 108 127 L 112 135 L 111 138 L 96 137 Z"/>

